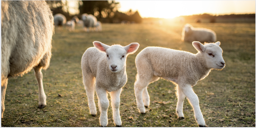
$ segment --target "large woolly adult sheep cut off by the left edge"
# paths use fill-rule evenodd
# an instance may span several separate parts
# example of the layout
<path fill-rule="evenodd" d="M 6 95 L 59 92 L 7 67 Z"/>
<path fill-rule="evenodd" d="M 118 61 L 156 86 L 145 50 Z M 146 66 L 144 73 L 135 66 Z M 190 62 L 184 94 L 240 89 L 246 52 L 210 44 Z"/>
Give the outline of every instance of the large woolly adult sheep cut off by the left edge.
<path fill-rule="evenodd" d="M 38 82 L 38 108 L 46 106 L 41 70 L 50 63 L 54 20 L 45 1 L 1 1 L 1 7 L 3 117 L 8 78 L 22 76 L 32 68 Z"/>

